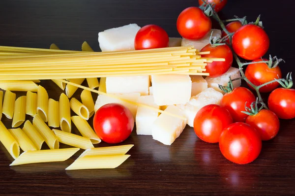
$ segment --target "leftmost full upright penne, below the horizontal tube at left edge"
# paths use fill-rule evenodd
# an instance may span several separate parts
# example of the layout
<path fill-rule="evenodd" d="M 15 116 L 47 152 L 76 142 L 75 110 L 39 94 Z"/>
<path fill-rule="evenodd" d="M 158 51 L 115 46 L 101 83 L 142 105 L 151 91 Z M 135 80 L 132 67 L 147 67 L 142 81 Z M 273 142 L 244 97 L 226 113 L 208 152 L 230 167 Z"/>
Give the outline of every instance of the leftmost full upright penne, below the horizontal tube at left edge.
<path fill-rule="evenodd" d="M 2 113 L 8 119 L 13 118 L 15 98 L 16 98 L 15 93 L 11 93 L 8 90 L 5 91 L 3 106 L 2 106 Z"/>

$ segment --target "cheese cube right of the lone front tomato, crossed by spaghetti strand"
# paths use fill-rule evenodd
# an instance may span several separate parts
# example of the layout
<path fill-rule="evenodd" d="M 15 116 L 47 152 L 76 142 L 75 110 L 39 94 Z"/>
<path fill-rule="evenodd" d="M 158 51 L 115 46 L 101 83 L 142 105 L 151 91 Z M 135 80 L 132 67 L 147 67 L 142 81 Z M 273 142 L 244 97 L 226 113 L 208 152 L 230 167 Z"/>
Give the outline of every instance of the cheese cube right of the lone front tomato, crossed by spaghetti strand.
<path fill-rule="evenodd" d="M 153 96 L 141 96 L 138 98 L 139 103 L 143 103 L 149 105 L 151 107 L 159 109 L 158 106 L 154 102 Z M 151 126 L 153 122 L 158 118 L 159 113 L 152 109 L 138 106 L 135 123 L 136 123 L 136 132 L 138 135 L 151 135 Z"/>

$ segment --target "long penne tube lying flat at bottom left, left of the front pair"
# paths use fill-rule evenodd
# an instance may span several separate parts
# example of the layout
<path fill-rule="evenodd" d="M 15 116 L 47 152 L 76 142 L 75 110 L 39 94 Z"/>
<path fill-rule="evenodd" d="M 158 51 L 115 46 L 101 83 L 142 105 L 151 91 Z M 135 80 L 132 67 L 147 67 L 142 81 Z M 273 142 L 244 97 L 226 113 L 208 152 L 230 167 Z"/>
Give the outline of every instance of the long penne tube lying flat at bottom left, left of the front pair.
<path fill-rule="evenodd" d="M 79 148 L 62 148 L 54 150 L 27 151 L 23 152 L 18 159 L 10 164 L 10 166 L 29 163 L 63 162 L 79 150 Z"/>

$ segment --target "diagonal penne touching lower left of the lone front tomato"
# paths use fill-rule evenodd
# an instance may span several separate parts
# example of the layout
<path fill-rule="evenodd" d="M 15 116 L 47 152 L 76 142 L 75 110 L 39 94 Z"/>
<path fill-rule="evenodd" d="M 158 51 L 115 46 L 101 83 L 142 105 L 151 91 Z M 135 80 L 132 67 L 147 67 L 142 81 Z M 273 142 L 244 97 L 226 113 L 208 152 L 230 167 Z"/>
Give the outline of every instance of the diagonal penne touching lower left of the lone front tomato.
<path fill-rule="evenodd" d="M 72 116 L 71 119 L 77 127 L 77 129 L 82 134 L 82 136 L 89 138 L 92 144 L 98 144 L 101 142 L 101 139 L 92 130 L 92 128 L 85 119 L 81 118 L 80 116 Z"/>

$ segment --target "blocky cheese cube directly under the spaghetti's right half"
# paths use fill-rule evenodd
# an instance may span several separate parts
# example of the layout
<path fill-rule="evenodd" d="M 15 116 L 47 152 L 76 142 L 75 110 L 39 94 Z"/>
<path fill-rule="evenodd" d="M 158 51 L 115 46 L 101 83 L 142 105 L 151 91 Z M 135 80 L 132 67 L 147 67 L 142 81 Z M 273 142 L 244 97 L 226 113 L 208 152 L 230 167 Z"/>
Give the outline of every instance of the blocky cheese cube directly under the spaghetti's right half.
<path fill-rule="evenodd" d="M 191 97 L 189 75 L 152 75 L 152 93 L 157 105 L 184 104 Z"/>

